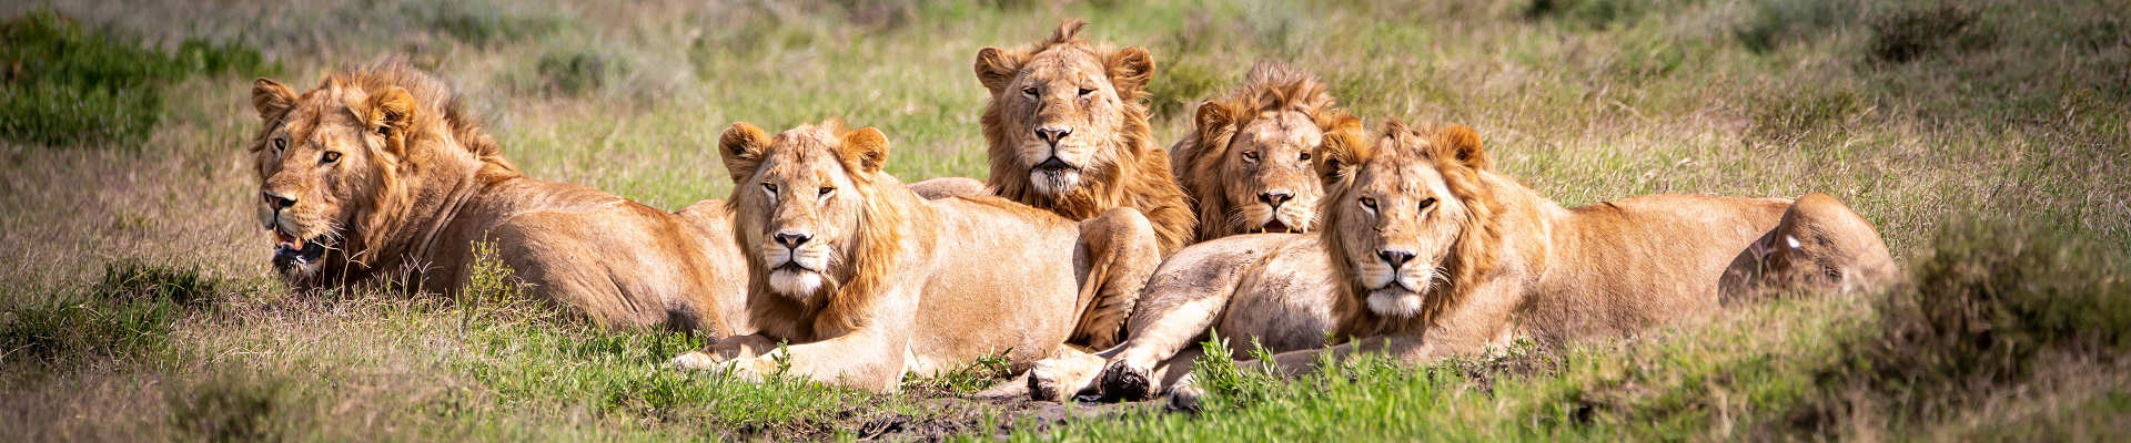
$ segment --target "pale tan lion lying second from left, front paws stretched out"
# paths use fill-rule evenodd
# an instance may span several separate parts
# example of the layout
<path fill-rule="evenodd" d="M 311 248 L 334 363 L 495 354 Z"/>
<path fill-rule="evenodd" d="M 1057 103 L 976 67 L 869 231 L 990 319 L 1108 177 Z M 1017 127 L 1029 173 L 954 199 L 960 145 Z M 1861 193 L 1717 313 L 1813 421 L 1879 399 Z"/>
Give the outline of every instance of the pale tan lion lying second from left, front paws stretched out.
<path fill-rule="evenodd" d="M 1161 260 L 1129 207 L 1072 222 L 997 196 L 921 198 L 880 170 L 889 141 L 874 128 L 733 124 L 718 145 L 759 330 L 678 368 L 874 392 L 985 356 L 1021 371 L 1115 345 Z"/>

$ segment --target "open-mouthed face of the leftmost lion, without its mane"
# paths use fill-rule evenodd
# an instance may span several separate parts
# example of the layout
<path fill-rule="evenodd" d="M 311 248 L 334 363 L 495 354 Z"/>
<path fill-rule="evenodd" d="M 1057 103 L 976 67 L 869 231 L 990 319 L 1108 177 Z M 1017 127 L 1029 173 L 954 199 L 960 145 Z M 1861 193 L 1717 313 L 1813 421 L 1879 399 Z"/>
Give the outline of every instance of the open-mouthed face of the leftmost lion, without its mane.
<path fill-rule="evenodd" d="M 260 177 L 254 213 L 275 236 L 275 270 L 303 281 L 328 256 L 345 260 L 349 226 L 377 211 L 375 196 L 392 173 L 390 134 L 411 115 L 411 98 L 403 89 L 369 96 L 335 83 L 296 96 L 258 79 L 251 102 L 266 121 L 249 147 Z"/>

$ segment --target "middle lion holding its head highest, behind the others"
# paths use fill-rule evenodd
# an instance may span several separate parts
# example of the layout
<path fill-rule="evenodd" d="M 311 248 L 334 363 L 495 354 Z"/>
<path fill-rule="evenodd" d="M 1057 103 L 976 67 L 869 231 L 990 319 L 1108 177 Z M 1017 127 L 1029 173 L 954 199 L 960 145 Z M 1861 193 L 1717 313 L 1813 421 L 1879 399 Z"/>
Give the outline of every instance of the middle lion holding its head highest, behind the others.
<path fill-rule="evenodd" d="M 1161 251 L 1176 251 L 1195 217 L 1140 104 L 1155 58 L 1140 47 L 1093 47 L 1080 40 L 1083 26 L 1068 19 L 1025 51 L 976 53 L 976 79 L 991 89 L 987 185 L 1068 219 L 1138 209 L 1161 234 Z"/>

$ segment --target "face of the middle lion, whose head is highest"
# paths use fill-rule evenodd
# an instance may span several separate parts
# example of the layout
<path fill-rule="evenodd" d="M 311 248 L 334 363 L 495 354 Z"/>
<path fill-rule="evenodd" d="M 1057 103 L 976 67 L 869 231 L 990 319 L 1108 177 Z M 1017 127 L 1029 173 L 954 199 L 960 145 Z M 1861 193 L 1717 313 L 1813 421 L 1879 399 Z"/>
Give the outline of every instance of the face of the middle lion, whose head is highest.
<path fill-rule="evenodd" d="M 1063 32 L 1063 30 L 1061 30 Z M 1132 100 L 1155 70 L 1146 49 L 1097 51 L 1070 40 L 1036 53 L 987 47 L 976 77 L 991 89 L 987 132 L 1008 147 L 1029 185 L 1044 196 L 1080 187 L 1121 158 Z"/>

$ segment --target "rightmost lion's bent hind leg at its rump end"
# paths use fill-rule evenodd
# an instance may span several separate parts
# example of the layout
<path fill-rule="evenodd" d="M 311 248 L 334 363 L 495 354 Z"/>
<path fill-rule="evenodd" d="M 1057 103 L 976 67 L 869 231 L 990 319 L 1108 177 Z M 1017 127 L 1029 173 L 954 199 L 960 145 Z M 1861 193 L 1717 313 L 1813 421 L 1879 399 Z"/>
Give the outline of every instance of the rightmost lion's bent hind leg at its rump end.
<path fill-rule="evenodd" d="M 1871 222 L 1833 196 L 1807 194 L 1733 260 L 1718 285 L 1733 305 L 1792 290 L 1869 290 L 1892 275 L 1894 256 Z"/>

